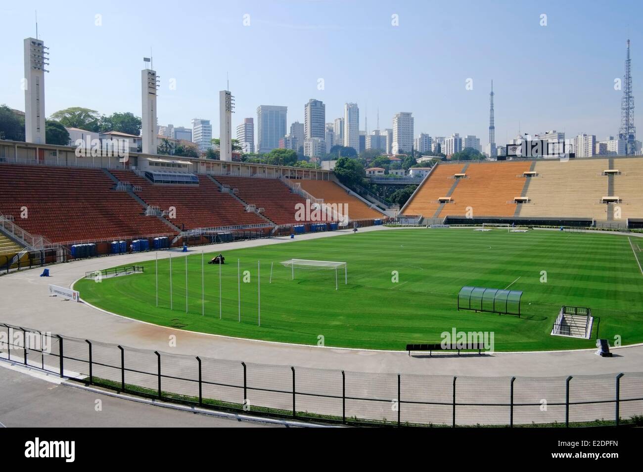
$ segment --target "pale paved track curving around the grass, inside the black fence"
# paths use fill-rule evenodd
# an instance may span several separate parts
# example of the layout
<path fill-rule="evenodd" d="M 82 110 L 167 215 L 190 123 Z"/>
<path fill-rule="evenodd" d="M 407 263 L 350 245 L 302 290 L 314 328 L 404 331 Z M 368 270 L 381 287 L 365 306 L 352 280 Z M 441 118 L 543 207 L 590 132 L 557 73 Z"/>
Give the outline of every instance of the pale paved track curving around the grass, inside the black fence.
<path fill-rule="evenodd" d="M 370 227 L 359 230 L 397 231 L 394 228 Z M 298 236 L 296 240 L 345 237 L 349 230 Z M 345 234 L 345 236 L 340 236 Z M 240 241 L 197 247 L 222 252 L 233 248 L 287 244 L 290 238 Z M 159 258 L 168 257 L 167 251 Z M 152 253 L 128 254 L 109 258 L 50 266 L 51 277 L 39 277 L 41 269 L 25 270 L 0 277 L 0 296 L 3 308 L 0 322 L 51 331 L 71 337 L 122 344 L 142 349 L 158 349 L 171 353 L 199 355 L 255 363 L 296 365 L 326 369 L 345 369 L 364 372 L 401 372 L 418 374 L 475 375 L 475 376 L 563 376 L 568 374 L 600 374 L 637 372 L 643 370 L 643 346 L 615 349 L 613 358 L 601 358 L 592 351 L 563 353 L 496 353 L 493 355 L 442 355 L 441 358 L 409 357 L 406 353 L 332 349 L 241 340 L 234 338 L 186 333 L 136 320 L 123 319 L 95 310 L 82 303 L 62 301 L 48 296 L 47 285 L 69 287 L 86 272 L 125 265 L 154 258 Z M 169 335 L 177 336 L 177 347 L 168 346 Z"/>

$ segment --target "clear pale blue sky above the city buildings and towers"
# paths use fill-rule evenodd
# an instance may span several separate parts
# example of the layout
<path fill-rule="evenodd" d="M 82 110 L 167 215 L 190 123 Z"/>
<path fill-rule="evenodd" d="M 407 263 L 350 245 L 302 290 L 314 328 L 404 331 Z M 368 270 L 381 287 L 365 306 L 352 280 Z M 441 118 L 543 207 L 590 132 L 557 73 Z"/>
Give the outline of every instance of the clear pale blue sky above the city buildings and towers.
<path fill-rule="evenodd" d="M 62 6 L 64 5 L 64 6 Z M 141 114 L 142 58 L 161 76 L 159 125 L 211 119 L 226 72 L 236 100 L 233 126 L 258 105 L 288 107 L 303 122 L 310 98 L 326 121 L 355 101 L 360 128 L 415 117 L 415 135 L 475 134 L 488 139 L 494 81 L 496 143 L 556 129 L 604 139 L 618 133 L 625 44 L 631 39 L 635 116 L 643 113 L 643 35 L 637 1 L 257 0 L 34 1 L 0 4 L 0 103 L 24 110 L 23 39 L 50 48 L 46 114 L 80 106 Z M 628 11 L 629 10 L 629 11 Z M 541 26 L 541 14 L 547 26 Z M 399 26 L 392 25 L 398 15 Z M 102 26 L 96 26 L 101 15 Z M 244 26 L 249 15 L 249 26 Z M 248 17 L 246 17 L 248 19 Z M 628 24 L 628 19 L 631 19 Z M 324 89 L 318 90 L 323 78 Z M 473 90 L 466 80 L 473 79 Z M 176 79 L 176 90 L 169 80 Z M 640 125 L 640 119 L 635 124 Z M 640 127 L 640 126 L 639 126 Z M 640 130 L 643 132 L 643 129 Z"/>

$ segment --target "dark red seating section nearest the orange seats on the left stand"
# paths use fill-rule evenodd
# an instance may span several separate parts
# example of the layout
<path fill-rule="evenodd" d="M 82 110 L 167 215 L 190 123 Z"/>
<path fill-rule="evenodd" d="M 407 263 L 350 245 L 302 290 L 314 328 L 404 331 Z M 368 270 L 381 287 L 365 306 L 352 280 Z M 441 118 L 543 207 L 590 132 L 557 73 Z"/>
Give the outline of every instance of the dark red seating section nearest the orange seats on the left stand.
<path fill-rule="evenodd" d="M 215 177 L 217 182 L 229 185 L 231 189 L 237 189 L 237 197 L 249 205 L 263 207 L 263 214 L 272 222 L 278 225 L 297 222 L 294 219 L 296 204 L 305 205 L 299 195 L 291 191 L 288 186 L 278 179 L 255 179 L 251 177 Z"/>

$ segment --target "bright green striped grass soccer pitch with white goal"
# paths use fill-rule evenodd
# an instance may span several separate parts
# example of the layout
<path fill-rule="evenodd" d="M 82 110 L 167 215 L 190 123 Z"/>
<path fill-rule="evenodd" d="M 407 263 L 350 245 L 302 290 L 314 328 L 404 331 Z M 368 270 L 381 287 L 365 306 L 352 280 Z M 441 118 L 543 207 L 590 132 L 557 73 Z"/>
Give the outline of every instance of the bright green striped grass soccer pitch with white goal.
<path fill-rule="evenodd" d="M 630 238 L 635 250 L 640 240 Z M 178 329 L 298 344 L 403 350 L 407 342 L 440 342 L 440 333 L 493 331 L 496 351 L 594 347 L 595 338 L 623 345 L 643 342 L 643 275 L 626 236 L 556 231 L 509 233 L 472 229 L 391 229 L 332 238 L 292 241 L 224 252 L 222 319 L 219 266 L 204 265 L 201 250 L 188 256 L 188 313 L 185 258 L 158 263 L 156 307 L 154 259 L 144 274 L 81 280 L 82 299 L 105 310 Z M 206 254 L 205 261 L 216 253 Z M 639 258 L 641 254 L 639 253 Z M 154 254 L 150 253 L 150 258 Z M 238 321 L 237 258 L 250 282 L 241 283 Z M 297 270 L 279 261 L 318 259 L 348 263 L 348 281 L 335 290 L 334 271 Z M 105 259 L 107 261 L 107 259 Z M 110 261 L 112 259 L 109 259 Z M 117 260 L 117 259 L 114 259 Z M 261 262 L 261 326 L 257 326 L 257 261 Z M 274 263 L 272 283 L 270 267 Z M 392 271 L 399 282 L 392 283 Z M 541 283 L 541 271 L 547 283 Z M 457 310 L 463 285 L 522 290 L 522 317 Z M 595 323 L 592 340 L 550 336 L 561 306 L 588 306 Z"/>

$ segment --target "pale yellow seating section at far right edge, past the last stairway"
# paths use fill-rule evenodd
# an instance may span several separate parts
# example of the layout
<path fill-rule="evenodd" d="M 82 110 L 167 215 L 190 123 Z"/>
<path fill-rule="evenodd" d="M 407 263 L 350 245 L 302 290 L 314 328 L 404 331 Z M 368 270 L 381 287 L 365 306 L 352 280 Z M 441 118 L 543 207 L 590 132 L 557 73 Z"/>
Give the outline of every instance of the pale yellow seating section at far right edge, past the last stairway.
<path fill-rule="evenodd" d="M 622 201 L 617 204 L 621 218 L 643 218 L 643 159 L 615 159 L 614 195 Z"/>

